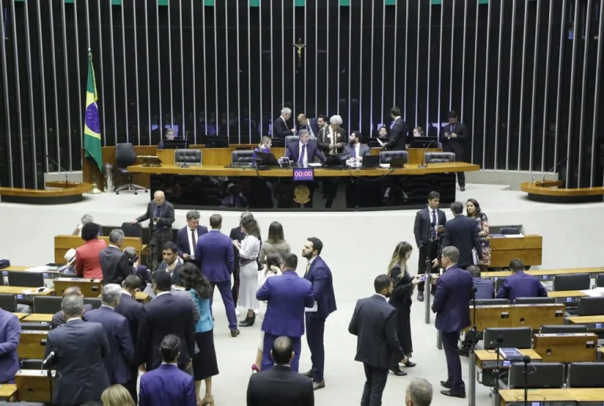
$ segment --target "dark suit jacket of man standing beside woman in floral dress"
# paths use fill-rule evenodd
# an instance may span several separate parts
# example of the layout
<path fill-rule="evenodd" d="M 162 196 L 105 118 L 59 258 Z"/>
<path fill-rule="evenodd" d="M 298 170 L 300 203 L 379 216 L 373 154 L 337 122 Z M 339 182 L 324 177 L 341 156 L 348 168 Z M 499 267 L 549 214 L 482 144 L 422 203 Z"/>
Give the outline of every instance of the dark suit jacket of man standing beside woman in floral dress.
<path fill-rule="evenodd" d="M 443 247 L 446 246 L 454 246 L 459 250 L 459 261 L 457 263 L 460 267 L 474 265 L 472 248 L 476 248 L 478 258 L 483 254 L 480 248 L 476 219 L 465 215 L 458 215 L 450 219 L 443 230 Z"/>

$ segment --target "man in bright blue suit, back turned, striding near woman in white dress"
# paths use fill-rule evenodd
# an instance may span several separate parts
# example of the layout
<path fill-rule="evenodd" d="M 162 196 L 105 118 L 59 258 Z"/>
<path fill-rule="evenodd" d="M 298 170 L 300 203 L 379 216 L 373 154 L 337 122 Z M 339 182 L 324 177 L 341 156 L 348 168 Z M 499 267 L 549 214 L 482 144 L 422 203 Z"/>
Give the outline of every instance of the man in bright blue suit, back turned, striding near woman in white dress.
<path fill-rule="evenodd" d="M 195 258 L 202 263 L 201 273 L 208 278 L 212 287 L 218 286 L 224 310 L 227 311 L 231 337 L 239 335 L 237 329 L 237 316 L 235 315 L 235 302 L 231 293 L 231 274 L 233 273 L 233 241 L 220 232 L 222 216 L 210 216 L 210 232 L 202 235 L 197 240 Z M 213 295 L 211 296 L 213 298 Z M 210 299 L 212 300 L 212 299 Z M 211 302 L 210 302 L 211 306 Z"/>

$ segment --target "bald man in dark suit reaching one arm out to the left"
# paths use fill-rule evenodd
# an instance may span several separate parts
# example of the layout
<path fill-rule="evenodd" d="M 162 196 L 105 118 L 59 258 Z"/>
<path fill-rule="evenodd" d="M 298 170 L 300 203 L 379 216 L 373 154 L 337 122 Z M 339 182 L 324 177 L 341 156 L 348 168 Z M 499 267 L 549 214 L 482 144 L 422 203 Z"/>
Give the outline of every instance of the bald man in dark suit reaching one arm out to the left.
<path fill-rule="evenodd" d="M 151 248 L 152 269 L 157 270 L 161 262 L 161 248 L 167 241 L 172 241 L 172 223 L 174 223 L 174 206 L 166 202 L 163 191 L 156 191 L 154 200 L 147 205 L 145 214 L 132 220 L 130 224 L 149 221 L 149 246 Z"/>

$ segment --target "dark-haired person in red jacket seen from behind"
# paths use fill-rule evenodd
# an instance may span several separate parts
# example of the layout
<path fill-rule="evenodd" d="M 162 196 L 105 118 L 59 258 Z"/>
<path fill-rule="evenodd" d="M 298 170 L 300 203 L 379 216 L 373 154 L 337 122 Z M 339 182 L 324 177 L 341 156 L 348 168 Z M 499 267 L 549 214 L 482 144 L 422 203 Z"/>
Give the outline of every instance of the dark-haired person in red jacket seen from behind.
<path fill-rule="evenodd" d="M 104 240 L 99 239 L 99 225 L 86 223 L 82 227 L 83 246 L 75 248 L 75 274 L 80 278 L 102 279 L 103 271 L 99 253 L 107 248 Z"/>

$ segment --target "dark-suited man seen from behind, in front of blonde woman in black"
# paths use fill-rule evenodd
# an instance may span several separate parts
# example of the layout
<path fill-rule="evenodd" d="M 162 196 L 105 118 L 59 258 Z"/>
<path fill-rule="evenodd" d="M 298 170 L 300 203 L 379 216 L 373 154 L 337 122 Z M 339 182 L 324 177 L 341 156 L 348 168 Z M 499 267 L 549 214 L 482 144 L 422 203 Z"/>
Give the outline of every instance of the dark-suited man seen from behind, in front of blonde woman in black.
<path fill-rule="evenodd" d="M 382 405 L 382 392 L 388 379 L 388 368 L 393 359 L 406 363 L 406 357 L 397 336 L 396 309 L 388 303 L 392 294 L 392 280 L 380 275 L 373 282 L 375 295 L 356 302 L 348 332 L 356 335 L 355 361 L 363 363 L 365 381 L 361 406 Z"/>

